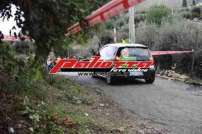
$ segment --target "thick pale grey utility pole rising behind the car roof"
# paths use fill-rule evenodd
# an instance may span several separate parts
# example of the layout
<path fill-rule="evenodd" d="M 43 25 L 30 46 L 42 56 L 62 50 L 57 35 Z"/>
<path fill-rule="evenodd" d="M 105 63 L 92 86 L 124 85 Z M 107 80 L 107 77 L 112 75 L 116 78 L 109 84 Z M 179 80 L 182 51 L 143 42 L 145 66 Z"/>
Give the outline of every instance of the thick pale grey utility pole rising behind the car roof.
<path fill-rule="evenodd" d="M 129 43 L 135 43 L 135 8 L 129 9 Z"/>

